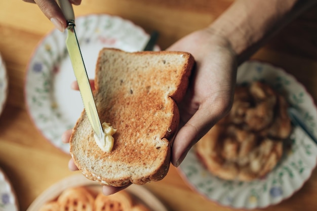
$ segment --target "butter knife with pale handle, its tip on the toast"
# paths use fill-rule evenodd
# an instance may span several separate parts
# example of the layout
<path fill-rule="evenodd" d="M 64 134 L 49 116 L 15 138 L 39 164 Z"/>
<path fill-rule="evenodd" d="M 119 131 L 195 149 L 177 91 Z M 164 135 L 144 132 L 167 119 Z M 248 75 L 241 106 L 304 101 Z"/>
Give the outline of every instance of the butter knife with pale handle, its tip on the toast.
<path fill-rule="evenodd" d="M 71 65 L 73 67 L 78 87 L 80 89 L 84 108 L 96 136 L 101 139 L 103 135 L 103 130 L 97 112 L 93 93 L 90 87 L 81 49 L 76 37 L 74 12 L 68 0 L 57 0 L 57 3 L 67 20 L 66 48 L 70 57 Z"/>

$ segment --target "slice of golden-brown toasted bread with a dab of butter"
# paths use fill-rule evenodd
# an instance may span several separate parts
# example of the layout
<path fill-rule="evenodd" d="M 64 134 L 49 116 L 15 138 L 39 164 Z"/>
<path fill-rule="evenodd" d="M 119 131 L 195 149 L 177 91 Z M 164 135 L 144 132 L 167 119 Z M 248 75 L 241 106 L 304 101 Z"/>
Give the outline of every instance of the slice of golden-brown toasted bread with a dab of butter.
<path fill-rule="evenodd" d="M 95 92 L 101 122 L 117 131 L 111 152 L 96 144 L 85 111 L 70 138 L 77 167 L 102 185 L 138 185 L 163 179 L 179 124 L 176 103 L 186 92 L 193 57 L 185 52 L 101 50 Z"/>

